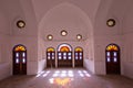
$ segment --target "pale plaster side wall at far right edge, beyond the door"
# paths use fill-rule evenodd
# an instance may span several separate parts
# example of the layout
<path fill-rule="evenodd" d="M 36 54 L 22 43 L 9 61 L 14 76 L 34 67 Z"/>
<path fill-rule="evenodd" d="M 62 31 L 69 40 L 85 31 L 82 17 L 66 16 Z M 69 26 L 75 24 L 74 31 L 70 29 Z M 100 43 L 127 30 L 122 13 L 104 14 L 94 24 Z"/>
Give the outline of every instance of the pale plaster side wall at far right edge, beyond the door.
<path fill-rule="evenodd" d="M 122 61 L 123 64 L 123 75 L 133 78 L 133 6 L 129 3 L 130 7 L 127 7 L 126 15 L 124 18 L 123 22 L 123 54 L 122 57 L 124 58 Z"/>

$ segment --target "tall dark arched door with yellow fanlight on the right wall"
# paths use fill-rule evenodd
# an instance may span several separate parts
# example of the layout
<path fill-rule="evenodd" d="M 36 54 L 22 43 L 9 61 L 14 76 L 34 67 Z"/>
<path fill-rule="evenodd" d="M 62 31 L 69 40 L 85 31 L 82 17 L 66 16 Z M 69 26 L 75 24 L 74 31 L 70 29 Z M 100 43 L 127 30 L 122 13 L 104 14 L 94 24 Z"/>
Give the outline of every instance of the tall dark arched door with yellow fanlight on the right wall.
<path fill-rule="evenodd" d="M 121 74 L 120 69 L 120 47 L 110 44 L 105 50 L 106 74 Z"/>

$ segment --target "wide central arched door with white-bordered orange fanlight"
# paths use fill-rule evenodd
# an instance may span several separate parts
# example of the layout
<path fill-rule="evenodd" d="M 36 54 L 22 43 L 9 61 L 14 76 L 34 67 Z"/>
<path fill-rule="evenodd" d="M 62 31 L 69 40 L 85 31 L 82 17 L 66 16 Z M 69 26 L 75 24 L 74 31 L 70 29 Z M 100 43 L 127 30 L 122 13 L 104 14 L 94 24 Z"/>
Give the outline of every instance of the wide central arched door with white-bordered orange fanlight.
<path fill-rule="evenodd" d="M 58 47 L 58 67 L 72 67 L 72 47 L 69 44 Z"/>

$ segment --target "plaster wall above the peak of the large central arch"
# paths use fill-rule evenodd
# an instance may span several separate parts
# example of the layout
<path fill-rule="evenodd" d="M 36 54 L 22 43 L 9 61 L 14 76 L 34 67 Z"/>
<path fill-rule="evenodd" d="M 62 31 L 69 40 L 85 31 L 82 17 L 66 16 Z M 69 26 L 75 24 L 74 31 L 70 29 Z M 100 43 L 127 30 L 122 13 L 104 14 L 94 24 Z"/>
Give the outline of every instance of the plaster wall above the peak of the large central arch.
<path fill-rule="evenodd" d="M 90 19 L 93 23 L 101 1 L 102 0 L 32 0 L 32 3 L 34 7 L 35 18 L 38 22 L 40 22 L 43 15 L 49 10 L 53 9 L 55 6 L 62 3 L 71 3 L 85 11 L 88 15 L 90 15 Z"/>

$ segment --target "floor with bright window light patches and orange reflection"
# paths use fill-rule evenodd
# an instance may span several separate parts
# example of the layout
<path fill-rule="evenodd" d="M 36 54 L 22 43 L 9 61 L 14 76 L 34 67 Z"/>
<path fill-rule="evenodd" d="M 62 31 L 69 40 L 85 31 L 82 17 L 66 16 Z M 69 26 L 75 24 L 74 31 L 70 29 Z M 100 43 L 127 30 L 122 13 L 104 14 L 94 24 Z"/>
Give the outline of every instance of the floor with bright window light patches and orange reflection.
<path fill-rule="evenodd" d="M 117 75 L 95 76 L 83 68 L 45 69 L 37 76 L 12 76 L 0 88 L 133 88 L 133 79 Z"/>

